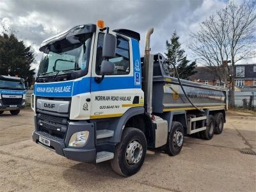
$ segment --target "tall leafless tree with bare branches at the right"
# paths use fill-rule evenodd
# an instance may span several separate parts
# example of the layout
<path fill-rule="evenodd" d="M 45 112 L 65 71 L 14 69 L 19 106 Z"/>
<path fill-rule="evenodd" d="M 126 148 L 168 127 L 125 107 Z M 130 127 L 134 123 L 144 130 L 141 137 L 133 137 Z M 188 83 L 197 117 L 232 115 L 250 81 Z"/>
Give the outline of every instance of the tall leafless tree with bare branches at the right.
<path fill-rule="evenodd" d="M 203 65 L 212 68 L 216 76 L 230 83 L 230 106 L 235 106 L 235 73 L 237 61 L 256 56 L 255 51 L 255 3 L 243 1 L 237 5 L 233 1 L 214 13 L 202 24 L 200 30 L 191 33 L 189 48 Z M 230 60 L 231 65 L 227 65 Z M 224 64 L 224 65 L 223 65 Z"/>

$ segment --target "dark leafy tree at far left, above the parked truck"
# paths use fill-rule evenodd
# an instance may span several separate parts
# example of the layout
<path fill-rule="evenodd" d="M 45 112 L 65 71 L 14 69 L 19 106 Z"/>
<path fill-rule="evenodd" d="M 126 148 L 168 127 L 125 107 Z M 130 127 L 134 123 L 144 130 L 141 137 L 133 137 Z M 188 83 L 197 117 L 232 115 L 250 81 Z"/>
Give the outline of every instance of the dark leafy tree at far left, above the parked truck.
<path fill-rule="evenodd" d="M 31 47 L 26 47 L 22 40 L 18 40 L 13 32 L 4 31 L 0 34 L 0 74 L 5 76 L 19 76 L 28 81 L 33 81 L 34 70 L 30 69 L 35 62 Z"/>

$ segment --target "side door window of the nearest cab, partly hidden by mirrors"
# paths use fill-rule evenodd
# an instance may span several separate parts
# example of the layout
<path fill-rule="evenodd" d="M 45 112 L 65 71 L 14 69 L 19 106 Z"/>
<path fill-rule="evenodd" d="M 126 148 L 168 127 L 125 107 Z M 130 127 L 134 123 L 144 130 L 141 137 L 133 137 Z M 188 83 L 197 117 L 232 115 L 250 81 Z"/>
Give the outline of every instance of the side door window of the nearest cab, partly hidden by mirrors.
<path fill-rule="evenodd" d="M 96 74 L 100 75 L 100 65 L 102 58 L 102 47 L 104 41 L 104 33 L 99 33 L 97 56 L 96 56 Z M 115 72 L 109 75 L 126 75 L 130 72 L 129 67 L 129 42 L 120 36 L 116 36 L 116 55 L 115 58 L 109 59 L 115 64 Z"/>

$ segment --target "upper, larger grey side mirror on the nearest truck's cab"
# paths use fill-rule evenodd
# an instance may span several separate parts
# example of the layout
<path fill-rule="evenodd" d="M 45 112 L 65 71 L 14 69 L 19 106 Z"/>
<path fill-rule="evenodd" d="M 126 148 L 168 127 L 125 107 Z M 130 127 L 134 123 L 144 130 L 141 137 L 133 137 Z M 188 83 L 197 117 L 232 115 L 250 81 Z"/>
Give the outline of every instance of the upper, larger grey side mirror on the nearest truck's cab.
<path fill-rule="evenodd" d="M 109 33 L 105 34 L 102 47 L 102 57 L 109 59 L 115 58 L 116 54 L 116 37 Z"/>

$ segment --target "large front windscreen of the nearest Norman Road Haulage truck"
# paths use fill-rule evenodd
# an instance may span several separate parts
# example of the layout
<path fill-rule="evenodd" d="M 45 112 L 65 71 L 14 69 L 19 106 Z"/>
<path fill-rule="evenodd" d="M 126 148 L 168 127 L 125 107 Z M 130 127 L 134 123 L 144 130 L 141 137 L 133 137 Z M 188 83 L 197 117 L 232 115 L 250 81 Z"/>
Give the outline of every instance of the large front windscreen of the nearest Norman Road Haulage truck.
<path fill-rule="evenodd" d="M 73 70 L 88 71 L 92 35 L 83 38 L 71 36 L 49 45 L 40 61 L 38 75 L 52 75 Z"/>

